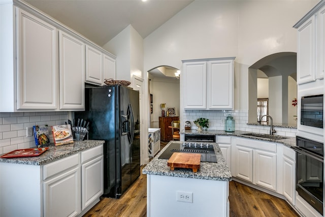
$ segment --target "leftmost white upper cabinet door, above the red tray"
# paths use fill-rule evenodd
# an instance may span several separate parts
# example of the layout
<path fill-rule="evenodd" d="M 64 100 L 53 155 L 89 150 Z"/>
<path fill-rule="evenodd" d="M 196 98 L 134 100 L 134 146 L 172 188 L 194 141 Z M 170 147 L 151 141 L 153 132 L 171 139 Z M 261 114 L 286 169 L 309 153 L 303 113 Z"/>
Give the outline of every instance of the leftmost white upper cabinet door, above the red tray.
<path fill-rule="evenodd" d="M 17 109 L 57 109 L 57 29 L 17 9 Z"/>

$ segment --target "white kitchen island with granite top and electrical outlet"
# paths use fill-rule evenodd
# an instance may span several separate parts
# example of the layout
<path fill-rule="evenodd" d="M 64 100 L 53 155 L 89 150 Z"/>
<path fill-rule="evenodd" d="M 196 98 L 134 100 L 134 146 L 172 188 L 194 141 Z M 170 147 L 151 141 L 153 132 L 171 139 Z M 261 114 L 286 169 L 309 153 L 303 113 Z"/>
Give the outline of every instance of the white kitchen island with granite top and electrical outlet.
<path fill-rule="evenodd" d="M 167 166 L 167 159 L 157 156 L 142 170 L 147 174 L 147 216 L 229 216 L 229 181 L 231 172 L 222 152 L 214 146 L 217 163 L 201 162 L 198 172 Z M 180 201 L 183 200 L 183 201 Z"/>

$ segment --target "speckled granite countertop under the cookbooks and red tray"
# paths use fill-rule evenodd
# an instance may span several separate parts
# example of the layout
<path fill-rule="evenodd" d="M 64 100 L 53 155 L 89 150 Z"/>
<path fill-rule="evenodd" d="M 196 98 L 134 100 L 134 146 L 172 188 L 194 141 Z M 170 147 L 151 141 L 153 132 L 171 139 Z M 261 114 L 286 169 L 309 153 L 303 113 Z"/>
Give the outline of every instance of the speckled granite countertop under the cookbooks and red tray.
<path fill-rule="evenodd" d="M 48 146 L 49 149 L 38 157 L 0 158 L 0 163 L 44 165 L 61 158 L 66 158 L 80 151 L 104 144 L 104 142 L 105 141 L 103 140 L 85 140 L 74 141 L 74 143 L 59 146 L 54 146 L 53 143 L 50 143 Z"/>

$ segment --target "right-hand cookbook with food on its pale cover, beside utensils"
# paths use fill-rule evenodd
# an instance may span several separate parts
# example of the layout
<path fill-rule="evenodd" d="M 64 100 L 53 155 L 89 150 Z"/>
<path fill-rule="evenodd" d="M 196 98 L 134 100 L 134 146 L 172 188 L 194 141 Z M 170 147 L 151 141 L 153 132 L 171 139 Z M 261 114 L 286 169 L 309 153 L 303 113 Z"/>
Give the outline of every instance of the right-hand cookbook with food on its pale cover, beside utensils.
<path fill-rule="evenodd" d="M 52 126 L 54 145 L 64 145 L 73 143 L 71 125 Z"/>

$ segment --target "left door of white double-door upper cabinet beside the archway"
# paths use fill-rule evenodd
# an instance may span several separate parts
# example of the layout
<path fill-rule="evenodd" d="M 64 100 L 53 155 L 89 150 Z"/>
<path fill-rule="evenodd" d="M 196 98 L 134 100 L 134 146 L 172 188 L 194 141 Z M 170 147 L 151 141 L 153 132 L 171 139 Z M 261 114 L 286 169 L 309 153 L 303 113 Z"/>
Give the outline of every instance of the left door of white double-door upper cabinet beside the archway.
<path fill-rule="evenodd" d="M 184 109 L 207 108 L 207 62 L 183 64 Z"/>

